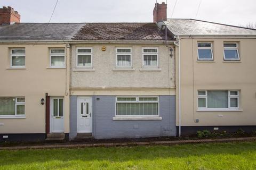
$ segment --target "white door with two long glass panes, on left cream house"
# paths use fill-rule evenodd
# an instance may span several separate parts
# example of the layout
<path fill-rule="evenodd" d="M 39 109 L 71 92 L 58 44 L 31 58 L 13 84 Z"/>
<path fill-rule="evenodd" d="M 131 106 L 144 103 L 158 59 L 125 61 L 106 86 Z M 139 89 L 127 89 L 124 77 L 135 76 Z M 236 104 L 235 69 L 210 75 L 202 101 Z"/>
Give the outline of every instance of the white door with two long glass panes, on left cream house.
<path fill-rule="evenodd" d="M 63 98 L 51 98 L 51 132 L 64 132 Z"/>

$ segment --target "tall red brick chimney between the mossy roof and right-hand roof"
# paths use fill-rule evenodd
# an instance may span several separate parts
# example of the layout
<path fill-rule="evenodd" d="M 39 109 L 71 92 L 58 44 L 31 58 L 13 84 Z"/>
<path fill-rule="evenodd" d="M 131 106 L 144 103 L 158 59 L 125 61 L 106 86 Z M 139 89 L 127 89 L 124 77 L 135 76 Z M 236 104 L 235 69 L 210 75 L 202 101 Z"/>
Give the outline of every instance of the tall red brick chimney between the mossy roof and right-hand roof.
<path fill-rule="evenodd" d="M 155 7 L 153 10 L 154 22 L 166 21 L 167 20 L 166 10 L 167 10 L 167 4 L 165 4 L 164 2 L 162 2 L 162 4 L 155 3 Z"/>

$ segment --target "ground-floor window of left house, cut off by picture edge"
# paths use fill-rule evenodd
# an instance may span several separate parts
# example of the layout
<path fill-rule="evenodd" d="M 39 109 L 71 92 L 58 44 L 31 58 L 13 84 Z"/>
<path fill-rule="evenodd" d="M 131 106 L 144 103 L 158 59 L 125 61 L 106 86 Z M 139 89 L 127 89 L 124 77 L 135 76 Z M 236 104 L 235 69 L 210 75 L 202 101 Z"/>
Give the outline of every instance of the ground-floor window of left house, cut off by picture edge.
<path fill-rule="evenodd" d="M 3 116 L 24 116 L 25 97 L 0 97 L 0 118 Z"/>

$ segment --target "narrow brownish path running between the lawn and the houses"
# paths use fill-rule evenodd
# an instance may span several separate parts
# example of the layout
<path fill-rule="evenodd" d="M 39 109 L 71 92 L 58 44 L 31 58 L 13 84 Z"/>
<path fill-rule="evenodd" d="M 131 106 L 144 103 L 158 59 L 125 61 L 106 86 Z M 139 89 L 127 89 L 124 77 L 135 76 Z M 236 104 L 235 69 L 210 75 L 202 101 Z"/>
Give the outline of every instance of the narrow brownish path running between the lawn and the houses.
<path fill-rule="evenodd" d="M 172 140 L 172 141 L 150 141 L 150 142 L 115 142 L 115 143 L 70 143 L 52 144 L 38 146 L 13 146 L 0 147 L 0 150 L 14 149 L 51 149 L 51 148 L 84 148 L 84 147 L 117 147 L 117 146 L 136 146 L 136 145 L 179 145 L 185 143 L 211 143 L 211 142 L 235 142 L 235 141 L 256 141 L 256 137 L 249 138 L 225 138 L 225 139 L 196 139 L 196 140 Z"/>

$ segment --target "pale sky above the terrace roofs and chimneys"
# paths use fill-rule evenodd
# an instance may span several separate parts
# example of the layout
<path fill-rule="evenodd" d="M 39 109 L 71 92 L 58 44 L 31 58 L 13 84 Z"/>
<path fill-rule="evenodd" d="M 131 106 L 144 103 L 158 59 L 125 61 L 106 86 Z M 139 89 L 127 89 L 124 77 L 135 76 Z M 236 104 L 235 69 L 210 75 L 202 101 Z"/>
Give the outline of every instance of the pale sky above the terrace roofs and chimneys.
<path fill-rule="evenodd" d="M 48 22 L 55 2 L 0 0 L 0 6 L 12 6 L 21 14 L 21 22 Z M 59 0 L 51 22 L 152 22 L 155 2 Z M 200 0 L 178 0 L 173 18 L 194 19 L 199 2 Z M 174 3 L 175 0 L 167 0 L 167 18 L 171 18 Z M 256 0 L 202 0 L 197 19 L 233 25 L 256 22 Z"/>

